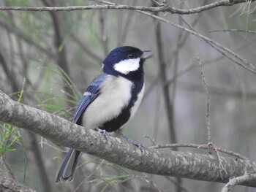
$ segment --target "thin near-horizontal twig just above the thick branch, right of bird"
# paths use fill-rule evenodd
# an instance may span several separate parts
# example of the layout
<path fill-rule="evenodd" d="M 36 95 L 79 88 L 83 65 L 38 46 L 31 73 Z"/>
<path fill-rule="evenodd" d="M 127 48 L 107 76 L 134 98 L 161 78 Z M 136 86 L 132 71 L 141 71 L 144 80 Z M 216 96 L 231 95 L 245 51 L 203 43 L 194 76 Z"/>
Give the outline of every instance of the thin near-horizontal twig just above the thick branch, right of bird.
<path fill-rule="evenodd" d="M 198 144 L 166 144 L 166 145 L 155 145 L 155 146 L 151 146 L 148 148 L 151 149 L 163 149 L 163 148 L 170 148 L 170 147 L 191 147 L 191 148 L 203 148 L 203 149 L 208 149 L 208 145 L 198 145 Z M 244 155 L 240 155 L 239 153 L 235 153 L 231 150 L 226 150 L 226 149 L 222 149 L 220 147 L 217 147 L 217 150 L 219 152 L 228 154 L 228 155 L 232 155 L 235 156 L 237 158 L 241 158 L 241 159 L 248 159 L 246 156 Z"/>

